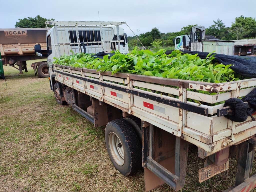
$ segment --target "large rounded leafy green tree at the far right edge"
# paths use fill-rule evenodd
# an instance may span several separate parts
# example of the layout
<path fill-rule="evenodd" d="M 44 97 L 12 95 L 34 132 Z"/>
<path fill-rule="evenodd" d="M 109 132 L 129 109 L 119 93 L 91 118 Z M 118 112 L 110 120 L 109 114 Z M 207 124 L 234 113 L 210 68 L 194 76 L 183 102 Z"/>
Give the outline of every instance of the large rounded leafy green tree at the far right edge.
<path fill-rule="evenodd" d="M 236 17 L 230 32 L 234 38 L 252 38 L 256 36 L 256 20 L 252 17 Z"/>

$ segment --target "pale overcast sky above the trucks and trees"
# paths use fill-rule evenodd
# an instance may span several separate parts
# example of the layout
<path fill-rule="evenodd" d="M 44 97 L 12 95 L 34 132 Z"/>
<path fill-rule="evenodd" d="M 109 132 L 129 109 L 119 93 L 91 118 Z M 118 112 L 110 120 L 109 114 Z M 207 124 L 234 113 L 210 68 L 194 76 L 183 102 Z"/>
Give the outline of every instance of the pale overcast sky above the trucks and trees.
<path fill-rule="evenodd" d="M 164 33 L 179 31 L 190 24 L 208 27 L 217 18 L 228 27 L 240 15 L 256 17 L 255 0 L 0 0 L 0 7 L 0 28 L 13 28 L 19 18 L 37 15 L 56 21 L 98 21 L 99 11 L 100 21 L 126 21 L 134 32 L 138 28 L 139 34 L 153 27 Z M 127 26 L 123 28 L 128 36 L 133 36 Z"/>

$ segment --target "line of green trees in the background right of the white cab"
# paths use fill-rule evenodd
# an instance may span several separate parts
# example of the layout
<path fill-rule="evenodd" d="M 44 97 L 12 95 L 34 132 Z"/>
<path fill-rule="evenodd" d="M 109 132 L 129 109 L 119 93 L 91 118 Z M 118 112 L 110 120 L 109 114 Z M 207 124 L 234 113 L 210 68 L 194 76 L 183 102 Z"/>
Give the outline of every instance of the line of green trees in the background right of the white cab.
<path fill-rule="evenodd" d="M 151 31 L 140 34 L 138 38 L 142 44 L 146 47 L 155 45 L 164 45 L 165 47 L 173 46 L 175 37 L 180 35 L 190 34 L 191 27 L 195 25 L 188 25 L 181 28 L 177 32 L 161 33 L 161 31 L 154 27 Z M 220 40 L 237 40 L 256 38 L 256 20 L 252 17 L 236 17 L 231 27 L 226 27 L 225 24 L 219 18 L 213 21 L 213 24 L 206 28 L 206 35 L 212 35 Z M 137 46 L 137 38 L 127 37 L 128 47 L 133 48 Z M 140 42 L 139 45 L 141 46 Z"/>

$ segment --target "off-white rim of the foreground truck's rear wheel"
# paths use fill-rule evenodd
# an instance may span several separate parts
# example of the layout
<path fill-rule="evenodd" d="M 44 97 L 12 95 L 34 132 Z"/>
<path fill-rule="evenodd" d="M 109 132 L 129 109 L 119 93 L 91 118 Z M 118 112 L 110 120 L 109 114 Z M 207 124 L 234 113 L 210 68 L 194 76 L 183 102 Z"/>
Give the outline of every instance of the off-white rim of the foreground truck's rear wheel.
<path fill-rule="evenodd" d="M 122 166 L 124 164 L 124 148 L 119 137 L 114 133 L 109 133 L 109 149 L 114 161 Z"/>

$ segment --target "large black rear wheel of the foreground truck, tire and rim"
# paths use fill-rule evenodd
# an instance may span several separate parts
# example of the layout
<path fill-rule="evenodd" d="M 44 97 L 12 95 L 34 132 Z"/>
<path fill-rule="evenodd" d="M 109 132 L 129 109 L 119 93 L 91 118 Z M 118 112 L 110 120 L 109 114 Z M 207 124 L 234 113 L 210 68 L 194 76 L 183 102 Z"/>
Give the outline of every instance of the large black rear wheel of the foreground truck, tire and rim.
<path fill-rule="evenodd" d="M 114 167 L 124 176 L 142 167 L 142 148 L 132 125 L 124 119 L 110 121 L 105 129 L 106 148 Z"/>

